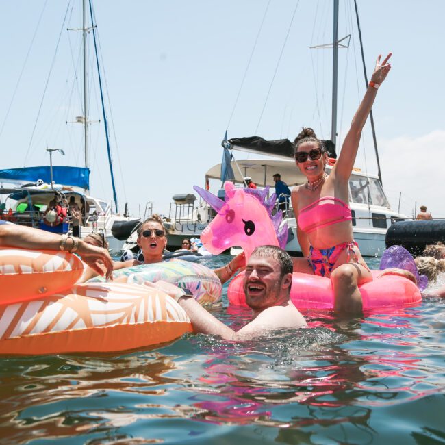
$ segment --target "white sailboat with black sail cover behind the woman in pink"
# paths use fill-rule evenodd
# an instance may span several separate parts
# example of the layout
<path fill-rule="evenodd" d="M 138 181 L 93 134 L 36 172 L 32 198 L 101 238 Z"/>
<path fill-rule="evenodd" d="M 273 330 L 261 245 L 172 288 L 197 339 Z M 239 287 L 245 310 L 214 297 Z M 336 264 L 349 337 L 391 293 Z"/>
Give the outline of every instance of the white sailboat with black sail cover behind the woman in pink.
<path fill-rule="evenodd" d="M 326 172 L 329 174 L 332 165 L 335 162 L 335 140 L 337 129 L 337 83 L 338 83 L 338 47 L 342 40 L 338 38 L 338 0 L 333 2 L 333 88 L 332 88 L 332 116 L 331 116 L 331 140 L 326 144 L 334 147 L 331 152 L 331 165 L 327 165 Z M 358 14 L 357 14 L 357 24 Z M 327 45 L 323 45 L 327 47 Z M 366 74 L 366 73 L 365 73 Z M 367 82 L 366 82 L 367 84 Z M 371 114 L 372 121 L 372 114 Z M 373 122 L 372 122 L 373 127 Z M 375 142 L 375 136 L 374 136 Z M 230 179 L 235 183 L 244 185 L 243 178 L 251 177 L 257 186 L 275 186 L 272 176 L 280 173 L 281 179 L 288 186 L 298 186 L 305 183 L 306 177 L 302 175 L 295 166 L 294 151 L 292 143 L 287 140 L 266 141 L 257 136 L 249 138 L 232 138 L 223 140 L 223 149 L 225 151 L 225 159 L 233 159 L 233 150 L 240 150 L 248 153 L 256 153 L 267 155 L 274 159 L 244 159 L 235 160 L 236 168 L 233 168 L 233 176 L 231 178 L 221 177 L 221 172 L 227 171 L 224 162 L 210 168 L 205 178 L 208 179 Z M 329 150 L 328 150 L 329 151 Z M 407 216 L 394 211 L 385 196 L 381 185 L 381 173 L 379 166 L 379 157 L 376 147 L 376 157 L 379 172 L 377 175 L 361 171 L 360 168 L 354 168 L 349 179 L 349 200 L 351 212 L 353 215 L 353 233 L 354 238 L 359 244 L 361 254 L 369 257 L 379 257 L 385 251 L 385 236 L 388 227 L 396 221 L 405 220 Z M 286 250 L 301 254 L 301 248 L 296 238 L 296 218 L 292 208 L 286 212 L 283 223 L 287 223 L 289 227 L 288 244 Z"/>

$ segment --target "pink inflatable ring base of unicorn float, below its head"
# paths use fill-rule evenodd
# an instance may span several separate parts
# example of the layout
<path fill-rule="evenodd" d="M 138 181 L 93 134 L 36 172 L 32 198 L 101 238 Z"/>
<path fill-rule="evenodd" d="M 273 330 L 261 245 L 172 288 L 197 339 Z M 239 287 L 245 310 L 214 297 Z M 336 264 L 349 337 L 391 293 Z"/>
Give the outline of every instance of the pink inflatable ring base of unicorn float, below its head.
<path fill-rule="evenodd" d="M 409 279 L 398 275 L 381 275 L 371 270 L 372 281 L 359 286 L 364 310 L 415 306 L 421 303 L 422 294 Z M 244 272 L 229 284 L 227 296 L 233 305 L 247 306 L 242 286 Z M 294 272 L 290 299 L 298 309 L 333 309 L 331 279 Z"/>

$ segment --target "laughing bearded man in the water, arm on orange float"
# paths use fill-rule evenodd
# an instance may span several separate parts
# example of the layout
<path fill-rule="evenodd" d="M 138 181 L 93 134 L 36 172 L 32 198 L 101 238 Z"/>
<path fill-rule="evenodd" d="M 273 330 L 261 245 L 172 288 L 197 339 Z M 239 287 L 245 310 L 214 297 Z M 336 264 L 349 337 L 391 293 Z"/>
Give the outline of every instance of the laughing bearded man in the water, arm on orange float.
<path fill-rule="evenodd" d="M 174 298 L 187 312 L 195 333 L 220 335 L 225 340 L 250 340 L 268 331 L 307 326 L 301 313 L 290 301 L 292 272 L 292 259 L 283 249 L 259 246 L 253 251 L 243 279 L 246 303 L 252 309 L 252 320 L 238 332 L 220 322 L 177 286 L 166 281 L 146 285 L 163 290 Z"/>

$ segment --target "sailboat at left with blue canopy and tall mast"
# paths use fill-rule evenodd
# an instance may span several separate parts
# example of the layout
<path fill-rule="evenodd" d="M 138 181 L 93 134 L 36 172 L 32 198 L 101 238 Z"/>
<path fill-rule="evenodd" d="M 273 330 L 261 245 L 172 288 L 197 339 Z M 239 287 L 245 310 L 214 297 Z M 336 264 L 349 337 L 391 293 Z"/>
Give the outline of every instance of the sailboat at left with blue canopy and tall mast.
<path fill-rule="evenodd" d="M 62 167 L 52 165 L 53 151 L 62 149 L 49 149 L 50 166 L 11 168 L 0 170 L 0 183 L 12 184 L 11 187 L 0 189 L 1 204 L 0 217 L 11 220 L 20 225 L 38 227 L 46 231 L 56 233 L 71 233 L 72 219 L 66 212 L 68 202 L 74 198 L 79 209 L 82 209 L 80 236 L 84 238 L 89 233 L 101 233 L 103 239 L 109 243 L 110 251 L 120 252 L 124 240 L 127 239 L 131 229 L 139 222 L 138 218 L 129 218 L 127 209 L 124 215 L 118 213 L 118 201 L 116 187 L 114 185 L 114 171 L 110 153 L 110 138 L 108 134 L 107 116 L 103 99 L 101 70 L 97 55 L 96 24 L 92 14 L 92 0 L 87 8 L 86 0 L 82 1 L 83 24 L 81 29 L 83 40 L 83 108 L 84 115 L 77 116 L 77 123 L 81 123 L 84 129 L 84 167 Z M 90 23 L 88 23 L 88 9 L 90 11 Z M 88 116 L 88 75 L 87 75 L 87 36 L 92 32 L 94 39 L 94 56 L 97 64 L 97 77 L 99 79 L 99 92 L 103 114 L 103 125 L 107 144 L 108 163 L 114 199 L 107 203 L 103 199 L 97 199 L 90 195 L 90 166 L 88 164 L 88 132 L 90 118 Z M 49 218 L 47 209 L 51 201 L 56 199 L 61 203 L 59 207 L 64 209 L 61 214 Z"/>

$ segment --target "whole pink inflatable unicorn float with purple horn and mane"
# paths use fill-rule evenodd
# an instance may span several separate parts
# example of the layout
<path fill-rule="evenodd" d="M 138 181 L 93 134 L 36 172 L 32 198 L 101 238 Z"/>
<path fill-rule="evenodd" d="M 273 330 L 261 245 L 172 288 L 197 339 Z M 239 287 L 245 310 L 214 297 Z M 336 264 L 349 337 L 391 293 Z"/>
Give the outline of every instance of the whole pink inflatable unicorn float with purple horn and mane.
<path fill-rule="evenodd" d="M 285 248 L 288 226 L 282 224 L 281 211 L 272 215 L 276 196 L 268 198 L 268 188 L 236 188 L 227 181 L 225 201 L 198 186 L 194 190 L 217 212 L 201 233 L 201 241 L 209 252 L 218 255 L 240 246 L 248 261 L 257 246 Z M 409 279 L 397 275 L 379 277 L 380 274 L 380 270 L 373 270 L 373 280 L 359 286 L 365 310 L 414 306 L 422 301 L 420 290 Z M 241 272 L 229 284 L 227 296 L 231 304 L 246 306 L 243 275 Z M 298 309 L 333 309 L 331 279 L 294 272 L 290 298 Z"/>

